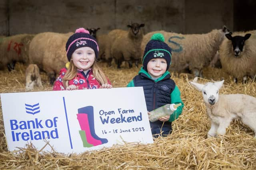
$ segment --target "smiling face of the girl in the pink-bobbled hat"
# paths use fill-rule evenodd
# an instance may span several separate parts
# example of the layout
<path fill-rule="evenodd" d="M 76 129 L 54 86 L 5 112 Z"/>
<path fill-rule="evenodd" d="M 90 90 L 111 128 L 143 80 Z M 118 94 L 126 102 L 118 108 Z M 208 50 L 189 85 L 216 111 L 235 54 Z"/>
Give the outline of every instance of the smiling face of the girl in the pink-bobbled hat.
<path fill-rule="evenodd" d="M 71 59 L 78 69 L 88 70 L 95 61 L 95 53 L 90 47 L 81 47 L 74 51 Z"/>

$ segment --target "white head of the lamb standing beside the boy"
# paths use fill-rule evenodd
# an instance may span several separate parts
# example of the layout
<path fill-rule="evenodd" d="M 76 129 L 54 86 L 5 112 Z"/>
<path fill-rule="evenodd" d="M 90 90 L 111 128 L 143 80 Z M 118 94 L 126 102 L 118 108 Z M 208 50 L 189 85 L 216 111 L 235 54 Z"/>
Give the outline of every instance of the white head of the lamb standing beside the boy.
<path fill-rule="evenodd" d="M 219 99 L 219 89 L 222 87 L 224 80 L 220 82 L 208 82 L 206 84 L 199 84 L 196 82 L 190 82 L 194 88 L 201 91 L 203 94 L 204 102 L 206 104 L 214 105 Z"/>

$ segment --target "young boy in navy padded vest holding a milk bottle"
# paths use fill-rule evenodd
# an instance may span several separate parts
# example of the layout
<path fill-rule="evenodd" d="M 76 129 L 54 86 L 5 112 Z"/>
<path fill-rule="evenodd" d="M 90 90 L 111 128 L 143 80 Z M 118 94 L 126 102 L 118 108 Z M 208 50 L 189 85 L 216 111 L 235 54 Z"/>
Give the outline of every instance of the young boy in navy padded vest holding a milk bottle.
<path fill-rule="evenodd" d="M 148 111 L 165 104 L 182 104 L 172 115 L 150 122 L 154 137 L 166 136 L 172 133 L 172 121 L 182 113 L 184 104 L 180 98 L 180 90 L 168 72 L 172 60 L 171 49 L 164 43 L 164 36 L 161 33 L 151 37 L 143 56 L 143 66 L 127 87 L 143 87 Z"/>

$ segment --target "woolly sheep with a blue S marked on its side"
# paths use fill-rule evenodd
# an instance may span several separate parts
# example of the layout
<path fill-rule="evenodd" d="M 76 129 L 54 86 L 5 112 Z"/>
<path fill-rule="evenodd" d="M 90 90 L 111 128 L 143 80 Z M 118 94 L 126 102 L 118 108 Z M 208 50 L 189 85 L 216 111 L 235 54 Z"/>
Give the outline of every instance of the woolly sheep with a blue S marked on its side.
<path fill-rule="evenodd" d="M 144 51 L 146 43 L 154 33 L 162 33 L 172 49 L 172 65 L 170 70 L 184 72 L 187 68 L 194 76 L 202 77 L 202 68 L 210 65 L 216 54 L 224 35 L 229 33 L 226 26 L 222 29 L 213 29 L 206 34 L 179 34 L 166 31 L 154 31 L 144 35 L 141 43 L 141 51 Z M 142 52 L 143 54 L 143 52 Z"/>

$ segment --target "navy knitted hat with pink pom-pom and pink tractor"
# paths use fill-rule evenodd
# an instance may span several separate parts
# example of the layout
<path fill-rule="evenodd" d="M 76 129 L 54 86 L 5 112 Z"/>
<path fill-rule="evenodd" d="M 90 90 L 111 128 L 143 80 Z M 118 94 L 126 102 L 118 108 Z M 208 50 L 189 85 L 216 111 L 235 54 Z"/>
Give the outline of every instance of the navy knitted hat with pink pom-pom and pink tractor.
<path fill-rule="evenodd" d="M 96 58 L 98 57 L 98 43 L 96 39 L 90 35 L 89 31 L 84 28 L 76 29 L 76 32 L 69 37 L 66 43 L 68 61 L 70 61 L 74 51 L 80 47 L 91 47 L 94 50 Z"/>

